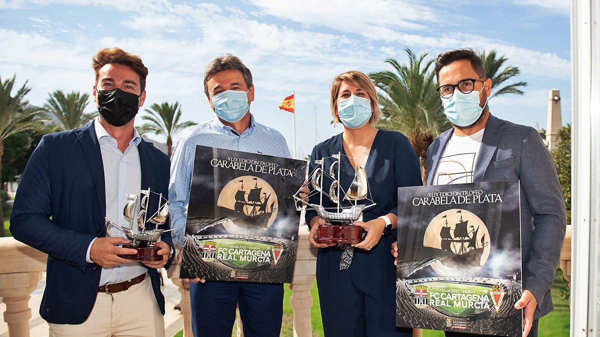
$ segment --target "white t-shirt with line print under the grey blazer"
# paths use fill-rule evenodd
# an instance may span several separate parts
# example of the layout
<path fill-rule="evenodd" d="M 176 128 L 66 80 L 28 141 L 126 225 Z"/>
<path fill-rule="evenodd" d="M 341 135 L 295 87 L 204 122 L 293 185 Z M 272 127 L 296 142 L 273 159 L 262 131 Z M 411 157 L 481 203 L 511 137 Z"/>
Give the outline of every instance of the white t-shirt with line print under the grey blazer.
<path fill-rule="evenodd" d="M 473 172 L 485 128 L 471 136 L 452 134 L 437 165 L 433 185 L 473 182 Z"/>

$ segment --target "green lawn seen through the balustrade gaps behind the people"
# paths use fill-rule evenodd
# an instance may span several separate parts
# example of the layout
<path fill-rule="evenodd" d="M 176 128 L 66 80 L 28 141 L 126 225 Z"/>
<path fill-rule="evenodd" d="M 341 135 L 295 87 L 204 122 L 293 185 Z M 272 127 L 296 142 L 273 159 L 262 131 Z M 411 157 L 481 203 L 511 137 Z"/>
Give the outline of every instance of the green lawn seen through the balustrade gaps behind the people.
<path fill-rule="evenodd" d="M 557 270 L 556 277 L 554 278 L 554 285 L 552 287 L 552 299 L 554 301 L 554 311 L 548 314 L 539 321 L 539 332 L 540 337 L 563 337 L 569 335 L 569 300 L 568 294 L 564 296 L 565 292 L 568 291 L 568 287 L 565 279 L 562 276 L 562 271 Z M 317 283 L 314 282 L 314 286 L 311 289 L 313 295 L 313 306 L 310 311 L 311 320 L 313 324 L 313 336 L 323 336 L 323 323 L 321 321 L 321 311 L 319 306 L 319 293 L 317 291 Z M 288 284 L 284 285 L 284 299 L 283 299 L 283 324 L 281 326 L 281 336 L 293 336 L 293 316 L 292 307 L 290 306 L 290 296 L 292 291 L 289 289 Z M 564 298 L 563 298 L 564 297 Z M 232 336 L 236 336 L 235 324 L 233 328 Z M 180 331 L 175 335 L 181 337 L 182 332 Z M 444 334 L 441 331 L 424 330 L 423 337 L 443 337 Z"/>

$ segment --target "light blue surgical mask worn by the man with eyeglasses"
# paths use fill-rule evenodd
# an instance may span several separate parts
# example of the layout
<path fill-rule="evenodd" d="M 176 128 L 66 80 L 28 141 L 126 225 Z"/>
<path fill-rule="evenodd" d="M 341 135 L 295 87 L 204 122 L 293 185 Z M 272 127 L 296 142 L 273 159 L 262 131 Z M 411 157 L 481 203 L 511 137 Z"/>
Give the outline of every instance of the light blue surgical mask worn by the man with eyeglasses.
<path fill-rule="evenodd" d="M 455 90 L 451 98 L 442 98 L 444 114 L 448 120 L 458 127 L 468 127 L 475 123 L 484 107 L 487 105 L 485 99 L 484 107 L 479 106 L 479 91 L 472 91 L 469 94 Z"/>

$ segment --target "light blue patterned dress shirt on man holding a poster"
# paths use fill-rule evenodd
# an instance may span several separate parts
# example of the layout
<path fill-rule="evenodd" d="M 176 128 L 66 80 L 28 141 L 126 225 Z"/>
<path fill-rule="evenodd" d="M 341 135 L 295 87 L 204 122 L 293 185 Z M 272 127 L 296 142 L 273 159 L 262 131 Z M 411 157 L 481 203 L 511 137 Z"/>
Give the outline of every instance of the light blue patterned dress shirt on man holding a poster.
<path fill-rule="evenodd" d="M 175 145 L 171 157 L 169 212 L 172 228 L 175 228 L 171 236 L 177 249 L 181 249 L 184 243 L 185 213 L 190 202 L 191 173 L 194 168 L 196 145 L 291 157 L 283 135 L 273 128 L 255 122 L 252 114 L 250 114 L 250 127 L 242 134 L 224 125 L 217 117 L 189 128 Z"/>

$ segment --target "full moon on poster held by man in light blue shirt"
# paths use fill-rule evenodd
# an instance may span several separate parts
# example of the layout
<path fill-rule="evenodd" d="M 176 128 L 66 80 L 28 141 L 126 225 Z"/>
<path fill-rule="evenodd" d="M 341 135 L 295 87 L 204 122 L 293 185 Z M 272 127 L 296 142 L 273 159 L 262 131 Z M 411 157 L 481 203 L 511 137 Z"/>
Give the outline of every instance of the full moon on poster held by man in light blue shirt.
<path fill-rule="evenodd" d="M 247 235 L 258 235 L 271 227 L 279 208 L 274 189 L 255 176 L 230 180 L 221 189 L 217 205 L 243 212 L 241 218 L 223 222 L 223 226 L 230 233 Z"/>

